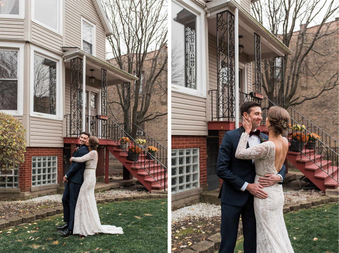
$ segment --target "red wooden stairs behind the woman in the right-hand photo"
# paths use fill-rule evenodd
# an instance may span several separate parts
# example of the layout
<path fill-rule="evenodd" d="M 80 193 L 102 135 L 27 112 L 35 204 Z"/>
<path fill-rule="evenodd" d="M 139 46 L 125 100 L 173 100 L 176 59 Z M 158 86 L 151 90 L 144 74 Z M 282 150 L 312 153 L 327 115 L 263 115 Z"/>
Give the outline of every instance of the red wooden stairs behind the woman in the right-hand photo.
<path fill-rule="evenodd" d="M 291 143 L 288 143 L 291 146 Z M 301 152 L 292 152 L 288 149 L 286 158 L 308 179 L 310 179 L 322 192 L 326 189 L 335 189 L 339 183 L 337 178 L 338 167 L 331 166 L 332 161 L 323 160 L 323 155 L 316 154 L 315 150 L 303 149 Z M 331 177 L 332 176 L 332 177 Z"/>

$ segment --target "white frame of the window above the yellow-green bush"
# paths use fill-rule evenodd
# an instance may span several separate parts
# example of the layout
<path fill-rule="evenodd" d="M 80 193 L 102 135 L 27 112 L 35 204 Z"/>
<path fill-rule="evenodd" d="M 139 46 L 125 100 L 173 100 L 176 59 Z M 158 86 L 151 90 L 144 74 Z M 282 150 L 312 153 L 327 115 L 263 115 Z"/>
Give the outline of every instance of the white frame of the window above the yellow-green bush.
<path fill-rule="evenodd" d="M 23 65 L 24 65 L 24 45 L 25 42 L 7 42 L 0 41 L 1 50 L 15 50 L 18 51 L 18 97 L 17 110 L 0 110 L 12 116 L 23 116 Z"/>

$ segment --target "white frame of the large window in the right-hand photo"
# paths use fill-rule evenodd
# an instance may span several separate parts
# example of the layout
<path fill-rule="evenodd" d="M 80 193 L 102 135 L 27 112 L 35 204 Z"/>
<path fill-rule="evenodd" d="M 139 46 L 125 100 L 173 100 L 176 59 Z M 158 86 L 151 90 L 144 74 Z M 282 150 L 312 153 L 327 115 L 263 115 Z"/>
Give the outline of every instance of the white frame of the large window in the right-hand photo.
<path fill-rule="evenodd" d="M 187 11 L 192 12 L 197 16 L 196 20 L 196 85 L 197 89 L 190 89 L 183 87 L 177 84 L 171 84 L 171 91 L 180 92 L 188 95 L 193 95 L 197 97 L 206 98 L 206 54 L 208 52 L 208 45 L 206 45 L 205 40 L 205 29 L 207 29 L 207 24 L 205 25 L 204 18 L 204 9 L 197 5 L 195 2 L 191 2 L 187 5 L 183 5 L 181 2 L 173 1 L 182 8 L 185 8 Z M 206 51 L 207 52 L 206 52 Z"/>

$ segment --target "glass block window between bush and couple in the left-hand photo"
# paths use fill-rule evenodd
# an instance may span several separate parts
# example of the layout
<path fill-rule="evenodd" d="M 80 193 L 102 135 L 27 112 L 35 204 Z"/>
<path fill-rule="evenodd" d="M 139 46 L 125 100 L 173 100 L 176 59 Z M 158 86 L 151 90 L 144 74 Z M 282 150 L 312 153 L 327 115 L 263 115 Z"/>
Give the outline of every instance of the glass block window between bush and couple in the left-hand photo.
<path fill-rule="evenodd" d="M 57 183 L 57 156 L 32 157 L 32 187 Z"/>

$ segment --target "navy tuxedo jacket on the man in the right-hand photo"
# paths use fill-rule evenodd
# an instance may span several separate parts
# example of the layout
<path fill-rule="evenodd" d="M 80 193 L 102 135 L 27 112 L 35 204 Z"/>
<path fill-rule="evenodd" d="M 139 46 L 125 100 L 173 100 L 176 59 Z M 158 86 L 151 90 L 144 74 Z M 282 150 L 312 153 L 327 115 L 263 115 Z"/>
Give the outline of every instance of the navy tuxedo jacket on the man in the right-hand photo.
<path fill-rule="evenodd" d="M 250 196 L 250 192 L 247 190 L 240 191 L 241 187 L 243 187 L 245 182 L 253 183 L 256 175 L 252 159 L 238 159 L 235 157 L 235 152 L 243 132 L 245 132 L 243 126 L 225 132 L 219 148 L 217 162 L 217 176 L 223 180 L 218 198 L 220 198 L 222 203 L 238 207 L 245 205 Z M 268 136 L 263 133 L 260 133 L 259 138 L 261 141 L 264 139 L 268 140 Z M 247 142 L 246 148 L 249 147 Z M 285 179 L 285 163 L 278 174 L 282 176 L 283 180 Z"/>

